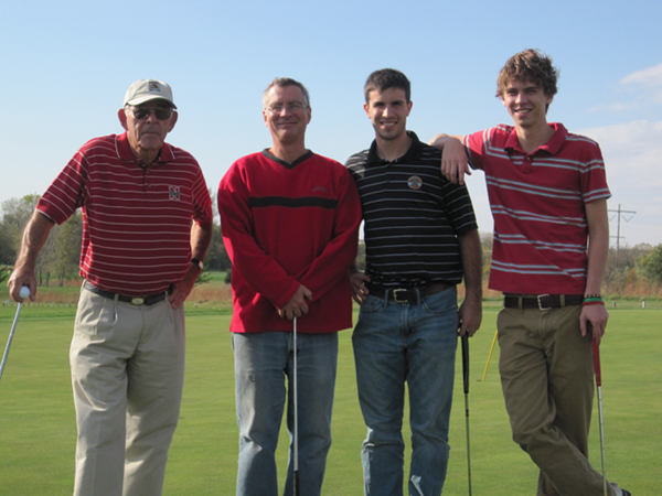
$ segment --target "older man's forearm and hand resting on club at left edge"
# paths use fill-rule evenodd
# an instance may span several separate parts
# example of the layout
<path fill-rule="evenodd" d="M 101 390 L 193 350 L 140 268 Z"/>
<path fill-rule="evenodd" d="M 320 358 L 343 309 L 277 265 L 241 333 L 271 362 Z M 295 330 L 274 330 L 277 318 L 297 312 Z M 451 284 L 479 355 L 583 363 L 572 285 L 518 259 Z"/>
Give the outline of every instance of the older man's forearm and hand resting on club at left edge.
<path fill-rule="evenodd" d="M 19 258 L 7 282 L 9 294 L 14 301 L 23 302 L 19 292 L 24 285 L 30 288 L 30 300 L 34 301 L 34 296 L 36 295 L 36 278 L 34 277 L 36 257 L 46 242 L 46 239 L 49 239 L 49 234 L 54 225 L 55 223 L 51 218 L 39 211 L 34 211 L 34 214 L 32 214 L 32 217 L 28 222 L 25 230 L 23 230 Z"/>

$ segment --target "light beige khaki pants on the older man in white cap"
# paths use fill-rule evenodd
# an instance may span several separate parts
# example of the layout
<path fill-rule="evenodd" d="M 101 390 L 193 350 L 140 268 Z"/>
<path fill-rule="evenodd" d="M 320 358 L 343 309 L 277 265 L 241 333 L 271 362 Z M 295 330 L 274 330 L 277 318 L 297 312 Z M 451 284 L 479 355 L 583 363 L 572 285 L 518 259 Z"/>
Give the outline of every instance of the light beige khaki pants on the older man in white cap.
<path fill-rule="evenodd" d="M 159 496 L 184 375 L 183 306 L 81 293 L 70 354 L 75 496 Z"/>

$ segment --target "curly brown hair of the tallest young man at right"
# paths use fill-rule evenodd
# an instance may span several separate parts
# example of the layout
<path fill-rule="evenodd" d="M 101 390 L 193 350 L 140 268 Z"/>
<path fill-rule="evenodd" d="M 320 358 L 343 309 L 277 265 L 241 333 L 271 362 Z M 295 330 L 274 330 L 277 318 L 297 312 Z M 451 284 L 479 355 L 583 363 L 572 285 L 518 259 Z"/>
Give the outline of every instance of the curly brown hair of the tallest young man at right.
<path fill-rule="evenodd" d="M 552 65 L 552 57 L 538 50 L 528 48 L 508 60 L 496 78 L 496 98 L 502 98 L 506 85 L 512 79 L 521 79 L 542 86 L 546 96 L 556 95 L 558 69 Z"/>

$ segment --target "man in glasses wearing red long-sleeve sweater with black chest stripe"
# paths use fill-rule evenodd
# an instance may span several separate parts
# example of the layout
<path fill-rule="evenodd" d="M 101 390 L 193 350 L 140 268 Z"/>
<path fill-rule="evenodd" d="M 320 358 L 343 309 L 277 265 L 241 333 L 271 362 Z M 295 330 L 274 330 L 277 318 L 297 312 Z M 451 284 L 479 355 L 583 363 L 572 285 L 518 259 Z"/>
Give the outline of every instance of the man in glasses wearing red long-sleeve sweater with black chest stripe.
<path fill-rule="evenodd" d="M 361 206 L 340 163 L 305 145 L 310 98 L 277 78 L 263 97 L 271 148 L 236 161 L 221 181 L 218 212 L 233 262 L 239 467 L 237 495 L 276 495 L 274 459 L 292 370 L 298 320 L 300 492 L 320 494 L 331 445 L 338 331 L 352 326 L 349 268 Z M 288 429 L 292 432 L 292 396 Z M 291 494 L 293 455 L 285 494 Z"/>

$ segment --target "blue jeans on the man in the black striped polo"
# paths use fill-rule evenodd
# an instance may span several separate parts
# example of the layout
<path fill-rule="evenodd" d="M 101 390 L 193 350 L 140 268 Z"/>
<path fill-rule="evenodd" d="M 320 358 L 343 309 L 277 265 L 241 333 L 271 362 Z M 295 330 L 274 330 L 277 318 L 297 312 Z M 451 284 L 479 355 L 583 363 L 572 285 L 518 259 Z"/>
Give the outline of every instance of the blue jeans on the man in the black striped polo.
<path fill-rule="evenodd" d="M 352 336 L 361 411 L 365 495 L 403 494 L 405 382 L 409 391 L 409 495 L 440 495 L 448 466 L 448 422 L 458 341 L 455 288 L 394 303 L 369 296 Z"/>

